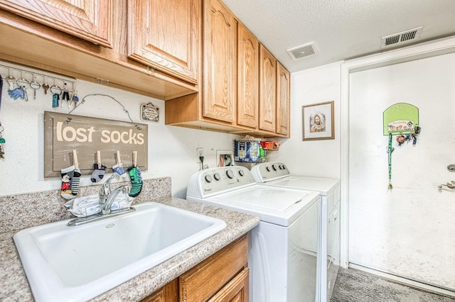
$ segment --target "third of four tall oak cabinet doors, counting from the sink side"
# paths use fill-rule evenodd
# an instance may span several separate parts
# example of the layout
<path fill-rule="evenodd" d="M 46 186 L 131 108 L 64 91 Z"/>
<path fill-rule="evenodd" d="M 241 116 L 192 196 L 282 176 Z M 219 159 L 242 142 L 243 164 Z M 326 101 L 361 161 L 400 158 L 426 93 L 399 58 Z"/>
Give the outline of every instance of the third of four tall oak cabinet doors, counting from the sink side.
<path fill-rule="evenodd" d="M 277 60 L 259 46 L 259 129 L 276 131 Z"/>

